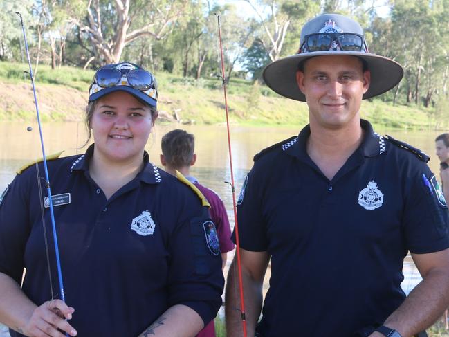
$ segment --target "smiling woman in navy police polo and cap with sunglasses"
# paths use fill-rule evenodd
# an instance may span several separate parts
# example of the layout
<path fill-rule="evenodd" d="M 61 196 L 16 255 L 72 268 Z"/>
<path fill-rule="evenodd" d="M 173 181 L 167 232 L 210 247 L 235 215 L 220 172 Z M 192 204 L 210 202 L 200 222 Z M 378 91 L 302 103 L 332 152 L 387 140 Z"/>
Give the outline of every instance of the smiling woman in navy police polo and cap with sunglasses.
<path fill-rule="evenodd" d="M 42 163 L 3 192 L 0 322 L 12 336 L 193 336 L 217 314 L 223 275 L 204 235 L 208 203 L 144 150 L 156 101 L 151 73 L 102 67 L 86 109 L 94 144 L 48 161 L 66 303 L 57 299 L 46 192 L 39 196 Z"/>

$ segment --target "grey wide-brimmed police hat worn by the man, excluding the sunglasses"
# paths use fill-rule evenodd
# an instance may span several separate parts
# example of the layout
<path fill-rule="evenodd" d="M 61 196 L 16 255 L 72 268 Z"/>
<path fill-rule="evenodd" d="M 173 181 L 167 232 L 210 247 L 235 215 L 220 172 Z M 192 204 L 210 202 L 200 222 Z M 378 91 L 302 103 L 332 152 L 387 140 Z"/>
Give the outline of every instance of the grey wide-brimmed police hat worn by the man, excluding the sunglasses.
<path fill-rule="evenodd" d="M 404 73 L 401 64 L 387 57 L 368 53 L 364 37 L 363 48 L 360 51 L 342 51 L 336 48 L 327 51 L 307 51 L 306 48 L 301 48 L 306 37 L 313 33 L 355 33 L 363 37 L 363 28 L 356 21 L 338 14 L 323 14 L 306 22 L 301 30 L 299 53 L 268 64 L 264 69 L 264 81 L 276 93 L 305 102 L 306 97 L 297 86 L 296 72 L 302 62 L 316 56 L 351 55 L 363 60 L 367 69 L 371 71 L 371 82 L 363 99 L 385 93 L 401 81 Z"/>

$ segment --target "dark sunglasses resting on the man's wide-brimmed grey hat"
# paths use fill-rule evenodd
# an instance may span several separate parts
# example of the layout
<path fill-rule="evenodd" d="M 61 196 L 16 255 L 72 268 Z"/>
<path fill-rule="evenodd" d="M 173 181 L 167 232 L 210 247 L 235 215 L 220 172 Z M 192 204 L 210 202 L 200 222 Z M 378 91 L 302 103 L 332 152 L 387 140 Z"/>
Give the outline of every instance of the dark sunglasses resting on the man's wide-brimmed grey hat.
<path fill-rule="evenodd" d="M 368 52 L 363 35 L 356 33 L 313 33 L 304 37 L 299 53 L 315 51 L 364 51 Z"/>

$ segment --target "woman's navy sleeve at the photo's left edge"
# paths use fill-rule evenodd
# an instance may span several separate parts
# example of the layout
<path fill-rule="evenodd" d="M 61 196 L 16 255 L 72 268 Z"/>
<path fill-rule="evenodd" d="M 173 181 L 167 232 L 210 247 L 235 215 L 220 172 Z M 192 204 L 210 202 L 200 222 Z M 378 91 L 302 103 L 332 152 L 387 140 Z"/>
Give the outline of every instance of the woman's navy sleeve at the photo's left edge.
<path fill-rule="evenodd" d="M 18 284 L 24 270 L 24 251 L 28 236 L 30 191 L 26 176 L 17 175 L 3 192 L 0 203 L 0 273 Z"/>

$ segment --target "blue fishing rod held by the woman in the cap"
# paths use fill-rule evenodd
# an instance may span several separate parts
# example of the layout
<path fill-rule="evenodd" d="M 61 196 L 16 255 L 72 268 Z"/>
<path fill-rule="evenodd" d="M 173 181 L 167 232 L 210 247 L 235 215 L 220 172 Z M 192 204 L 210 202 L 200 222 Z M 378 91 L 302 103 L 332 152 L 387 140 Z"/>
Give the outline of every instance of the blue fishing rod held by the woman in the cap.
<path fill-rule="evenodd" d="M 28 75 L 30 75 L 31 84 L 33 86 L 33 95 L 34 95 L 34 99 L 35 99 L 37 125 L 39 126 L 39 136 L 40 136 L 41 147 L 42 147 L 42 158 L 43 158 L 43 161 L 44 161 L 44 172 L 45 172 L 45 179 L 44 180 L 45 180 L 45 185 L 46 185 L 47 194 L 48 194 L 48 203 L 50 205 L 49 208 L 50 208 L 50 216 L 51 216 L 51 227 L 52 227 L 52 230 L 53 230 L 53 242 L 55 244 L 57 277 L 58 277 L 58 280 L 59 280 L 59 292 L 60 292 L 61 300 L 63 302 L 66 302 L 66 298 L 65 298 L 65 295 L 64 295 L 64 283 L 62 282 L 61 261 L 59 259 L 59 248 L 58 248 L 59 246 L 57 244 L 55 214 L 53 212 L 53 200 L 52 200 L 52 194 L 51 194 L 51 188 L 50 188 L 50 179 L 48 179 L 48 167 L 47 167 L 47 160 L 46 160 L 45 149 L 44 149 L 44 137 L 42 136 L 41 118 L 40 118 L 40 114 L 39 114 L 39 107 L 37 105 L 35 79 L 34 79 L 34 76 L 33 76 L 33 69 L 31 68 L 30 51 L 28 49 L 28 42 L 26 40 L 24 20 L 22 19 L 22 15 L 20 14 L 20 12 L 16 12 L 16 14 L 19 15 L 20 24 L 21 24 L 21 28 L 22 28 L 22 33 L 24 33 L 26 57 L 28 59 L 28 66 L 30 68 L 30 71 L 29 71 Z M 28 131 L 30 131 L 30 129 L 28 129 Z M 39 185 L 40 185 L 40 182 L 39 182 Z M 39 188 L 39 190 L 40 190 L 40 188 Z M 44 235 L 45 235 L 45 230 L 44 230 Z M 48 258 L 48 256 L 47 256 L 47 258 Z M 68 336 L 68 334 L 66 334 L 66 336 Z"/>

